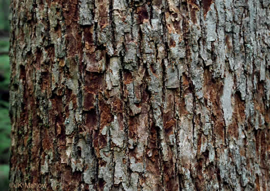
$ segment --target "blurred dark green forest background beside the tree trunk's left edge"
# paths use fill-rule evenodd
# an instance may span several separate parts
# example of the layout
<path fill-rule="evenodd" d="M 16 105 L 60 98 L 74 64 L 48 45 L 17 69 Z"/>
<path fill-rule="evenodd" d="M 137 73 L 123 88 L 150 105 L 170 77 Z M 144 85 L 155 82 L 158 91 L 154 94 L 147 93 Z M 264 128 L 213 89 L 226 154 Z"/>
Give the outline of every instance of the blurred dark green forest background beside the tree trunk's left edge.
<path fill-rule="evenodd" d="M 0 190 L 9 185 L 9 0 L 0 0 Z"/>

